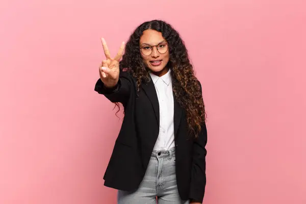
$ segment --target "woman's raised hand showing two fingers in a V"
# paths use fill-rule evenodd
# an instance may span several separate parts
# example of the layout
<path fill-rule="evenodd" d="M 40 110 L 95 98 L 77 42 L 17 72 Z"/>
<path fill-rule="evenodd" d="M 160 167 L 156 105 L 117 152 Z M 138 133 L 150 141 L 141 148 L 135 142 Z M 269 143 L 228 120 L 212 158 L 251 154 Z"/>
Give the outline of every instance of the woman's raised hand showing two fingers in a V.
<path fill-rule="evenodd" d="M 124 42 L 115 58 L 111 58 L 110 51 L 104 38 L 101 38 L 106 60 L 103 60 L 99 67 L 100 79 L 107 88 L 112 88 L 117 85 L 119 80 L 119 61 L 123 55 Z"/>

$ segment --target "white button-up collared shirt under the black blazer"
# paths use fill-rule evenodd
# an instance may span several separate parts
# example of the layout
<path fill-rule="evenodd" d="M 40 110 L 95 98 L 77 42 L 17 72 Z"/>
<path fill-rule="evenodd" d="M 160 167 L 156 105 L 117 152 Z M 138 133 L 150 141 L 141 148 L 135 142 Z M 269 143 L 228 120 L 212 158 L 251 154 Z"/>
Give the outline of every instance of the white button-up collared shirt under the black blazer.
<path fill-rule="evenodd" d="M 170 72 L 169 69 L 162 77 L 158 77 L 150 72 L 157 93 L 160 110 L 160 131 L 154 150 L 168 150 L 175 147 L 173 124 L 174 105 Z"/>

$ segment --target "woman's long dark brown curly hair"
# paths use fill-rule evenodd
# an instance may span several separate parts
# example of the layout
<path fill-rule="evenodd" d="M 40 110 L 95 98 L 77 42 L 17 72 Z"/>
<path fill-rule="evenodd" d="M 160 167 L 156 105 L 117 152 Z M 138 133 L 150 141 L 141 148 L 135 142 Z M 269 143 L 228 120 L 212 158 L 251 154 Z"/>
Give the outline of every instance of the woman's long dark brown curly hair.
<path fill-rule="evenodd" d="M 174 97 L 185 110 L 188 130 L 195 138 L 201 131 L 201 125 L 206 120 L 201 87 L 194 75 L 186 46 L 172 26 L 162 20 L 146 21 L 135 29 L 125 44 L 125 52 L 120 61 L 120 71 L 127 68 L 137 79 L 137 90 L 141 83 L 150 81 L 149 70 L 141 57 L 139 41 L 145 30 L 152 29 L 162 33 L 169 44 L 169 62 L 167 66 L 172 70 L 172 89 Z"/>

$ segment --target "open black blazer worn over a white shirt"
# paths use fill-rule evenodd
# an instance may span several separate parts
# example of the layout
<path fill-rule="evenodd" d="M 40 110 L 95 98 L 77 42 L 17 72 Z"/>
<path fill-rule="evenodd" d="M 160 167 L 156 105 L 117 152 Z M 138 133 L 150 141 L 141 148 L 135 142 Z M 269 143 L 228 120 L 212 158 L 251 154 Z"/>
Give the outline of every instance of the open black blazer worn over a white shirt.
<path fill-rule="evenodd" d="M 159 103 L 154 84 L 151 80 L 141 85 L 137 93 L 136 79 L 121 70 L 115 89 L 105 89 L 99 79 L 94 90 L 124 107 L 121 130 L 104 175 L 104 185 L 126 191 L 136 190 L 159 135 Z M 175 97 L 174 138 L 179 194 L 183 200 L 202 202 L 206 186 L 206 125 L 202 125 L 198 139 L 190 137 L 185 111 Z"/>

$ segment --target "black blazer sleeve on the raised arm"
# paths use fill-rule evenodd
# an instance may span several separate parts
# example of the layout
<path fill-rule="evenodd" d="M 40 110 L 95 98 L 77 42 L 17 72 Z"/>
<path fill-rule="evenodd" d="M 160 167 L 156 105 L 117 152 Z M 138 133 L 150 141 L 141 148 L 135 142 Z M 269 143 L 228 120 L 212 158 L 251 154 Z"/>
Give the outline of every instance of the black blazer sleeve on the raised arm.
<path fill-rule="evenodd" d="M 131 83 L 132 79 L 130 77 L 130 74 L 125 71 L 120 71 L 119 81 L 114 88 L 106 88 L 101 79 L 98 79 L 95 84 L 94 90 L 99 94 L 105 95 L 105 97 L 107 97 L 113 103 L 125 104 L 130 97 Z"/>

